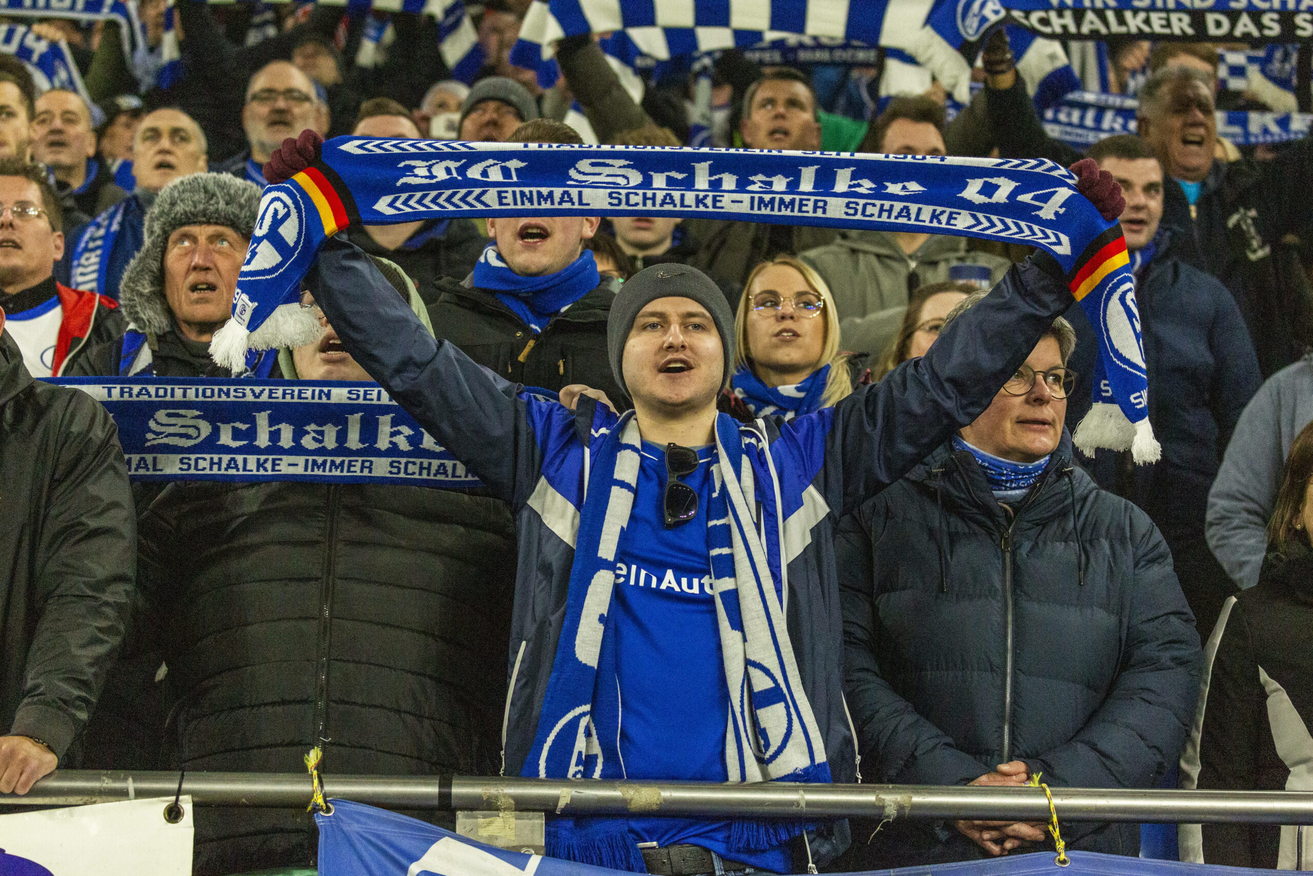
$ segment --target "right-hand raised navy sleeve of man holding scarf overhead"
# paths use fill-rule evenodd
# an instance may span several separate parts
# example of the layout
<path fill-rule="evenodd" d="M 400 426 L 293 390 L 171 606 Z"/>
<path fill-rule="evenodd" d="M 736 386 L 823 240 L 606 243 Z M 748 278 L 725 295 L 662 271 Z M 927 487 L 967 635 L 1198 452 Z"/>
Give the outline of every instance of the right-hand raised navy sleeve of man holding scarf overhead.
<path fill-rule="evenodd" d="M 1073 301 L 1057 260 L 1033 255 L 955 319 L 926 356 L 835 405 L 826 460 L 842 465 L 839 516 L 979 416 Z M 835 485 L 827 491 L 834 508 Z"/>

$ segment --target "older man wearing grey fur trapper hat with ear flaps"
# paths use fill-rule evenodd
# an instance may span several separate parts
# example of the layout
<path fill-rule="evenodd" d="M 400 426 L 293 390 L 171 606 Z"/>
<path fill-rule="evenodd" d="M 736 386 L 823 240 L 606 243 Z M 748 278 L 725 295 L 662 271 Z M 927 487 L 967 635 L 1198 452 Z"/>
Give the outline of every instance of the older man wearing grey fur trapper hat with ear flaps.
<path fill-rule="evenodd" d="M 119 284 L 126 332 L 92 348 L 70 376 L 230 377 L 210 361 L 210 338 L 231 313 L 259 209 L 260 189 L 227 173 L 165 185 Z M 274 360 L 261 356 L 252 372 L 268 376 Z"/>

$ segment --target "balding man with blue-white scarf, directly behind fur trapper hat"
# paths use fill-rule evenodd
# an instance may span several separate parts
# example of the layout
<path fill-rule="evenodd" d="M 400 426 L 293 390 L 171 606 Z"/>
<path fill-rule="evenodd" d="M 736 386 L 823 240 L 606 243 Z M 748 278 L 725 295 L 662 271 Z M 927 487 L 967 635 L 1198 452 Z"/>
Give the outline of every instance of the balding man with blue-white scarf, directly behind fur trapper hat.
<path fill-rule="evenodd" d="M 207 171 L 207 152 L 201 126 L 183 110 L 169 106 L 142 117 L 133 137 L 137 188 L 74 232 L 70 285 L 117 299 L 123 271 L 144 244 L 155 196 L 181 176 Z"/>

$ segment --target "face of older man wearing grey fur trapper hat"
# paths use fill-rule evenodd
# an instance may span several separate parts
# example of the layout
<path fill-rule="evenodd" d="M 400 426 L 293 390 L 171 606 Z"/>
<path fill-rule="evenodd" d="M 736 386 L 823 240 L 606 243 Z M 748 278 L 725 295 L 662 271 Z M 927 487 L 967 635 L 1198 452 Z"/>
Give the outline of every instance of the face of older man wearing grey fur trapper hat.
<path fill-rule="evenodd" d="M 164 298 L 181 332 L 209 341 L 227 322 L 249 240 L 225 225 L 186 225 L 164 246 Z"/>

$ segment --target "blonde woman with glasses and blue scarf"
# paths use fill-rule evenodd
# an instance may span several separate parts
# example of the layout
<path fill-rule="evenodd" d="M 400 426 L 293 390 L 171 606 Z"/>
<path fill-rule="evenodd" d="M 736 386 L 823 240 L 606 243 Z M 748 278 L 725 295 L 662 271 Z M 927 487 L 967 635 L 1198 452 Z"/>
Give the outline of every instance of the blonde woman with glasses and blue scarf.
<path fill-rule="evenodd" d="M 839 314 L 821 274 L 780 255 L 748 274 L 734 318 L 734 395 L 754 416 L 789 420 L 869 382 L 865 357 L 839 352 Z"/>

